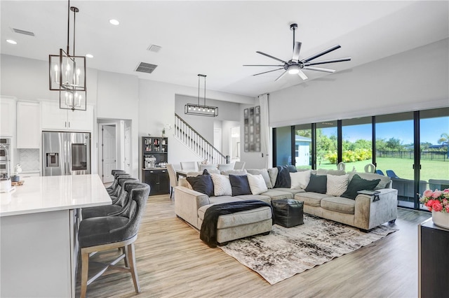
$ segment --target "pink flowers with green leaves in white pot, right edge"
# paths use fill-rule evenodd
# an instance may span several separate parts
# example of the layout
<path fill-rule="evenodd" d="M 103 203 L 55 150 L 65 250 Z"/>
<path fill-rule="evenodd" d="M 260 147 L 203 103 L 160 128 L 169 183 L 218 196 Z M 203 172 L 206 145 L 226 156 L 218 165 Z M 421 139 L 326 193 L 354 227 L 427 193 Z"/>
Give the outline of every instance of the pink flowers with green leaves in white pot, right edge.
<path fill-rule="evenodd" d="M 449 188 L 445 190 L 426 190 L 420 202 L 432 213 L 435 225 L 449 229 Z"/>

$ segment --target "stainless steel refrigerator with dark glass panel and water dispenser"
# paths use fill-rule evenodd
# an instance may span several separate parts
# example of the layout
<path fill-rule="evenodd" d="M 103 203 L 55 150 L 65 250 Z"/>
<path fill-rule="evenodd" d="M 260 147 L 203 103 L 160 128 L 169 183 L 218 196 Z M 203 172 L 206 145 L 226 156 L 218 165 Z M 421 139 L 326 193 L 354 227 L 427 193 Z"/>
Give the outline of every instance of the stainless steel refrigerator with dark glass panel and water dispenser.
<path fill-rule="evenodd" d="M 42 132 L 43 176 L 91 173 L 91 134 Z"/>

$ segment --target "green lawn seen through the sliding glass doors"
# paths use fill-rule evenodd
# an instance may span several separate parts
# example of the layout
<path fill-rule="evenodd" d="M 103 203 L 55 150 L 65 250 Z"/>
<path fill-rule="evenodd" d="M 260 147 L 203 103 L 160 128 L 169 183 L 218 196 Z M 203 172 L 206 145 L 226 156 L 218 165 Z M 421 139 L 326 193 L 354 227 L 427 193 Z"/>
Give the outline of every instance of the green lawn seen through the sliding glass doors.
<path fill-rule="evenodd" d="M 387 170 L 393 170 L 399 178 L 413 180 L 413 159 L 377 157 L 377 169 L 380 169 L 387 175 Z M 345 163 L 346 171 L 352 171 L 353 167 L 358 172 L 364 172 L 366 164 L 370 163 L 368 160 L 361 162 L 347 162 Z M 321 162 L 317 166 L 318 169 L 337 169 L 335 164 L 329 164 L 327 161 Z M 429 179 L 445 179 L 449 180 L 449 162 L 422 160 L 421 161 L 421 180 L 428 181 Z"/>

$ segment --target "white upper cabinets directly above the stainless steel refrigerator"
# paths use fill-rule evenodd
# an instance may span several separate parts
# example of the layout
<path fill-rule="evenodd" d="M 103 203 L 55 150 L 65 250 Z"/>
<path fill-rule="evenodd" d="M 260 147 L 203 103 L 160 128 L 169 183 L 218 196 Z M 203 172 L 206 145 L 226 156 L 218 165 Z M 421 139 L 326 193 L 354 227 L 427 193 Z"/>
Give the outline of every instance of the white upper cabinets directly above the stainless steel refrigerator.
<path fill-rule="evenodd" d="M 42 101 L 42 129 L 91 132 L 93 130 L 93 106 L 86 111 L 72 111 L 59 108 L 59 102 Z"/>

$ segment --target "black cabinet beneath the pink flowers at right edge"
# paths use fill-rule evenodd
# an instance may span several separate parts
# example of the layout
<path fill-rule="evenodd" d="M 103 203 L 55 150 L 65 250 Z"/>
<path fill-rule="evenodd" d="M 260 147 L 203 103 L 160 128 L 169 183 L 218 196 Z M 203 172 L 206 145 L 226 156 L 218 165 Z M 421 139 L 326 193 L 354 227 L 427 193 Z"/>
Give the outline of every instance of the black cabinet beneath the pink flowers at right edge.
<path fill-rule="evenodd" d="M 449 229 L 431 218 L 418 225 L 418 297 L 448 297 Z"/>

